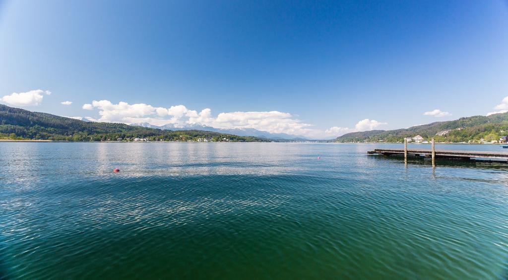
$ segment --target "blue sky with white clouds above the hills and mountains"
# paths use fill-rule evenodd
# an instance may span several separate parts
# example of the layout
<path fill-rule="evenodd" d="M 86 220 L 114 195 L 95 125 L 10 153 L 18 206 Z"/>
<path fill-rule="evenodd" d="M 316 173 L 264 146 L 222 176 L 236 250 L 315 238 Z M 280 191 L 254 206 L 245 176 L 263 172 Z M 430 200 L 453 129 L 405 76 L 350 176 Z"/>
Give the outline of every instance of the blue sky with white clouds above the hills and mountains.
<path fill-rule="evenodd" d="M 0 0 L 0 102 L 331 138 L 508 110 L 506 50 L 506 1 Z"/>

